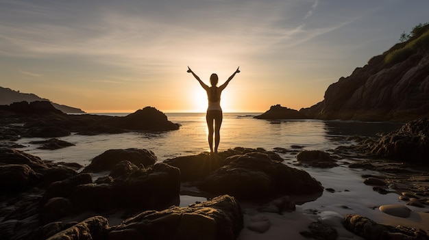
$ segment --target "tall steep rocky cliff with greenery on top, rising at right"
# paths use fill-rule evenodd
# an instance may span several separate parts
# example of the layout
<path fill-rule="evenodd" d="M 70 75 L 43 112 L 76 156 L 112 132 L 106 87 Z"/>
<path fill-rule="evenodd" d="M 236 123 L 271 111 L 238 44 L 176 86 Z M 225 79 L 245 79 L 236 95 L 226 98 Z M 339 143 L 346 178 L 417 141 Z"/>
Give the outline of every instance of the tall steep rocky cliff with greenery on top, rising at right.
<path fill-rule="evenodd" d="M 368 64 L 341 77 L 324 100 L 299 110 L 310 118 L 341 120 L 413 120 L 429 116 L 429 24 L 413 29 Z"/>

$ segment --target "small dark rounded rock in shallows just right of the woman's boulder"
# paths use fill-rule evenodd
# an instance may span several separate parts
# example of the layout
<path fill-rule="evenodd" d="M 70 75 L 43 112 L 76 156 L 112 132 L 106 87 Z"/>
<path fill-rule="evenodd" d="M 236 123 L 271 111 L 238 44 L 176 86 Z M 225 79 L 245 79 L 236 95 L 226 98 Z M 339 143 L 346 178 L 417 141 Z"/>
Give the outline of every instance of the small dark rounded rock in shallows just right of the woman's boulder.
<path fill-rule="evenodd" d="M 338 166 L 329 153 L 320 150 L 303 150 L 298 153 L 297 161 L 317 168 L 333 168 Z"/>

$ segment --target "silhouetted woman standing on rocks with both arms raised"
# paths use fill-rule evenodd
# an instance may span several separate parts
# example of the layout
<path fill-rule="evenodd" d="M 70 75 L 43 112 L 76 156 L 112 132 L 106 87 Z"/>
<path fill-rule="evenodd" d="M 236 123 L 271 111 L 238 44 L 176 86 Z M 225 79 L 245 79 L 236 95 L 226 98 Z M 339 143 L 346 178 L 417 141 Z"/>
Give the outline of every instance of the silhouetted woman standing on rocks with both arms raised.
<path fill-rule="evenodd" d="M 201 87 L 203 87 L 204 90 L 206 90 L 207 92 L 208 108 L 206 114 L 206 121 L 208 126 L 208 146 L 210 146 L 210 153 L 217 153 L 217 148 L 219 147 L 219 142 L 221 141 L 221 136 L 219 135 L 222 124 L 221 93 L 226 88 L 228 83 L 230 83 L 236 73 L 240 72 L 238 68 L 231 75 L 231 77 L 228 78 L 228 80 L 225 81 L 225 83 L 223 83 L 219 87 L 217 87 L 217 81 L 219 80 L 217 74 L 213 73 L 210 76 L 211 86 L 209 87 L 208 85 L 203 83 L 203 81 L 201 81 L 201 79 L 199 79 L 197 75 L 195 75 L 191 68 L 188 67 L 188 72 L 192 73 L 195 79 L 198 80 L 199 84 L 201 84 Z M 213 127 L 213 122 L 215 122 L 215 127 Z M 215 151 L 213 151 L 213 133 L 215 133 Z"/>

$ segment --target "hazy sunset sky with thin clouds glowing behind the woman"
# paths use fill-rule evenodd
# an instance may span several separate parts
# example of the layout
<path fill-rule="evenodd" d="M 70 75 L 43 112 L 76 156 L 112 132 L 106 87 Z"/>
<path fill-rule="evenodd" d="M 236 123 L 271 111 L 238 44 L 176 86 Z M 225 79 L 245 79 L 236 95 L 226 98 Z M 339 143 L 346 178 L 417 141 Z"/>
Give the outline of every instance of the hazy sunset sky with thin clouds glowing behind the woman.
<path fill-rule="evenodd" d="M 428 0 L 0 0 L 0 86 L 86 112 L 299 110 L 419 23 Z"/>

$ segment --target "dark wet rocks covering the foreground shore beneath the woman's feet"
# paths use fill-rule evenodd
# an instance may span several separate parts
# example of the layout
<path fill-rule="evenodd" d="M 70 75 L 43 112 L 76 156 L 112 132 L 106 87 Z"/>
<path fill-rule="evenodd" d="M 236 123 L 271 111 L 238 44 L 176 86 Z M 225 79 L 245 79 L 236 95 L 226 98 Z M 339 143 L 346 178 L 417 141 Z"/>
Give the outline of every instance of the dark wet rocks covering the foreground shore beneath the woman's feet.
<path fill-rule="evenodd" d="M 300 160 L 304 164 L 311 162 L 309 159 L 336 161 L 335 156 L 344 153 L 343 149 L 331 153 L 300 152 L 304 152 L 301 153 L 304 161 Z M 217 156 L 201 153 L 163 163 L 156 163 L 153 152 L 144 149 L 108 150 L 86 168 L 50 163 L 19 150 L 3 149 L 0 161 L 2 239 L 88 239 L 88 236 L 92 239 L 238 239 L 243 230 L 267 232 L 273 215 L 295 216 L 295 202 L 290 195 L 308 199 L 311 195 L 318 198 L 322 191 L 335 191 L 324 189 L 307 172 L 284 165 L 279 155 L 262 148 L 234 148 Z M 380 189 L 396 187 L 400 195 L 408 197 L 408 202 L 414 198 L 422 207 L 429 204 L 424 202 L 429 196 L 429 187 L 424 184 L 429 180 L 427 172 L 417 180 L 418 174 L 404 174 L 403 166 L 394 163 L 356 161 L 350 163 L 349 168 L 370 165 L 378 165 L 380 171 L 380 176 L 367 176 L 364 181 L 373 185 L 374 191 L 383 194 Z M 387 174 L 395 171 L 403 178 L 383 178 L 383 169 Z M 195 176 L 195 170 L 203 174 Z M 103 174 L 95 178 L 95 172 Z M 184 192 L 184 184 L 195 189 L 193 194 L 208 200 L 179 207 L 180 195 L 189 194 Z M 400 206 L 384 206 L 380 211 L 394 215 L 403 210 Z M 123 220 L 110 225 L 109 219 L 115 219 L 114 216 Z M 345 228 L 365 239 L 371 239 L 362 235 L 367 231 L 378 231 L 383 239 L 398 236 L 428 239 L 429 229 L 378 225 L 356 214 L 347 215 L 341 221 L 338 215 L 328 218 L 336 219 L 337 224 L 341 222 L 343 226 L 316 217 L 300 235 L 336 239 L 338 232 Z"/>

